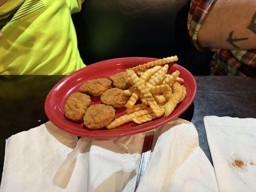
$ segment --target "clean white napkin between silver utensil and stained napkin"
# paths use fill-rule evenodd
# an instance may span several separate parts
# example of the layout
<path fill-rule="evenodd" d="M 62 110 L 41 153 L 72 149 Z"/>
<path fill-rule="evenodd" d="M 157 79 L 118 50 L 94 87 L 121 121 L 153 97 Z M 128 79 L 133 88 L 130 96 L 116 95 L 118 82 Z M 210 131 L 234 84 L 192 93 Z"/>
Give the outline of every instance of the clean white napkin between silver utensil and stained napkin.
<path fill-rule="evenodd" d="M 156 137 L 137 192 L 218 192 L 214 169 L 192 123 L 174 120 L 158 129 Z"/>

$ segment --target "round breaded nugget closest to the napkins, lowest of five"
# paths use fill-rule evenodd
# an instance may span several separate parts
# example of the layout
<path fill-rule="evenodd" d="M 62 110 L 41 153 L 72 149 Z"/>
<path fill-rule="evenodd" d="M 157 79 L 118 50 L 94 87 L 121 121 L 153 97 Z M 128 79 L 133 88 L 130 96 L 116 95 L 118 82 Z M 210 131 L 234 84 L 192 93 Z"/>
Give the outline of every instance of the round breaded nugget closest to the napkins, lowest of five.
<path fill-rule="evenodd" d="M 115 109 L 104 104 L 92 105 L 85 111 L 84 124 L 89 129 L 108 126 L 115 118 Z"/>

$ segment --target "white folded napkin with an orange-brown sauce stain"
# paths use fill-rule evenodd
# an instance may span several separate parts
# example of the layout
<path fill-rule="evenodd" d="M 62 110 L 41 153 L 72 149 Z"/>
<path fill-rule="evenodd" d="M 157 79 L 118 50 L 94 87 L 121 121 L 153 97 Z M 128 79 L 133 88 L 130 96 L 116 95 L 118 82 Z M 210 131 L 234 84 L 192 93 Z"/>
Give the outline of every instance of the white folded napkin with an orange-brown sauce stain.
<path fill-rule="evenodd" d="M 256 191 L 256 119 L 207 116 L 207 141 L 220 192 Z"/>

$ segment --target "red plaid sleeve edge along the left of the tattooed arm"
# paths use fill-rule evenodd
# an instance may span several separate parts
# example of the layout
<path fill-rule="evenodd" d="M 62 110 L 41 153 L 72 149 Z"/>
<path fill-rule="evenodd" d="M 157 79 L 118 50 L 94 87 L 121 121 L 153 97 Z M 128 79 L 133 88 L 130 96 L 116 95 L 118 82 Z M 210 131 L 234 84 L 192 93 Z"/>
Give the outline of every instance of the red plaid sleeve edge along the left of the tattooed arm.
<path fill-rule="evenodd" d="M 215 0 L 192 0 L 188 13 L 187 27 L 192 44 L 201 51 L 209 50 L 200 46 L 197 40 L 198 31 L 203 24 Z"/>

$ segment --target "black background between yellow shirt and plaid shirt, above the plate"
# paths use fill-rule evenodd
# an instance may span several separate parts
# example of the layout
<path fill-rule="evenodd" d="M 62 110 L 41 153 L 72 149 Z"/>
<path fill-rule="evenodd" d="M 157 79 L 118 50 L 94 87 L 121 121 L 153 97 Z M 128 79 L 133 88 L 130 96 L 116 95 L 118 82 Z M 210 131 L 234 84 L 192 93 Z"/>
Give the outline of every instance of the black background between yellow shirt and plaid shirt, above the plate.
<path fill-rule="evenodd" d="M 73 14 L 86 65 L 120 57 L 177 55 L 194 75 L 209 75 L 213 53 L 194 48 L 188 36 L 190 0 L 85 0 Z"/>

